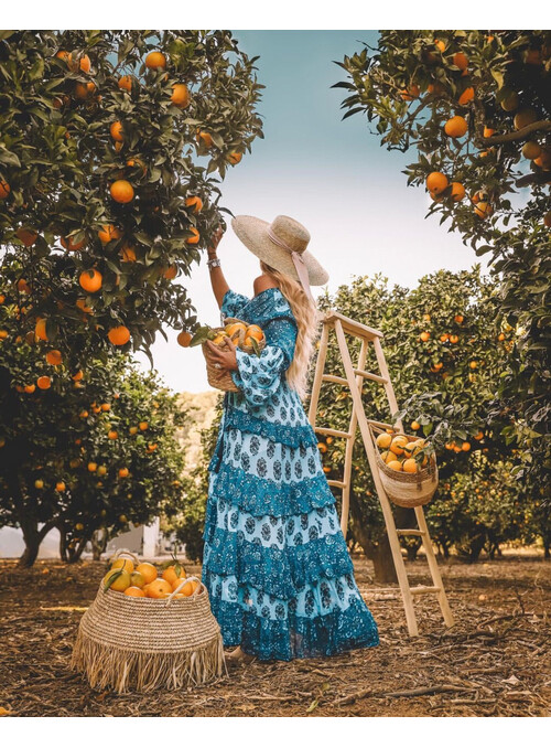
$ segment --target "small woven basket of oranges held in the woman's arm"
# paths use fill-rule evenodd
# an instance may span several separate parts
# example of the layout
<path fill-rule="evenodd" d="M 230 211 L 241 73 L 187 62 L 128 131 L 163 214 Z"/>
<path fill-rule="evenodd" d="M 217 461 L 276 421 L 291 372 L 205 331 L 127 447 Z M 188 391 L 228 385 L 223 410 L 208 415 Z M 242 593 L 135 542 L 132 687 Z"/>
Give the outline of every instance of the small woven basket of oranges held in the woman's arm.
<path fill-rule="evenodd" d="M 266 335 L 262 329 L 258 324 L 249 324 L 237 318 L 227 317 L 224 327 L 199 328 L 190 342 L 190 346 L 199 344 L 203 346 L 208 384 L 224 392 L 238 392 L 239 387 L 234 383 L 231 372 L 216 367 L 210 349 L 205 342 L 207 340 L 220 349 L 227 348 L 227 341 L 230 340 L 245 353 L 260 355 L 266 346 Z"/>

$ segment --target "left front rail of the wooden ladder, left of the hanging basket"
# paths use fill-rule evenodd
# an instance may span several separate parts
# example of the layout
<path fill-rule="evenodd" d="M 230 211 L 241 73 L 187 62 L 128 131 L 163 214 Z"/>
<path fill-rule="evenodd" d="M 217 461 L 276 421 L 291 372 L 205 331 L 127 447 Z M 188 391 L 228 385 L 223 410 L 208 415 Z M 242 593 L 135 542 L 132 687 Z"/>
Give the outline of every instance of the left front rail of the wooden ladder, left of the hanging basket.
<path fill-rule="evenodd" d="M 406 621 L 408 624 L 408 631 L 410 637 L 417 637 L 418 626 L 415 619 L 415 611 L 413 609 L 413 600 L 411 596 L 411 590 L 408 581 L 408 575 L 406 573 L 406 565 L 403 563 L 402 552 L 400 547 L 400 541 L 398 539 L 398 533 L 396 532 L 395 517 L 392 515 L 392 510 L 390 507 L 390 502 L 388 496 L 382 488 L 382 483 L 379 478 L 379 471 L 375 458 L 375 447 L 371 440 L 371 435 L 369 431 L 369 425 L 367 423 L 366 414 L 364 410 L 364 405 L 361 403 L 361 396 L 355 386 L 355 375 L 354 366 L 350 359 L 350 352 L 346 343 L 346 338 L 338 320 L 335 321 L 335 333 L 337 336 L 338 348 L 341 350 L 341 356 L 343 359 L 343 364 L 346 373 L 346 378 L 348 380 L 348 385 L 350 387 L 350 395 L 353 399 L 353 407 L 356 410 L 358 418 L 358 426 L 361 434 L 361 439 L 366 449 L 367 458 L 369 461 L 369 467 L 374 477 L 375 485 L 377 493 L 379 494 L 379 501 L 382 509 L 382 515 L 385 517 L 385 524 L 387 526 L 388 539 L 390 543 L 390 549 L 392 553 L 392 559 L 395 562 L 396 574 L 398 577 L 398 584 L 400 585 L 400 591 L 402 594 L 403 608 L 406 612 Z M 398 408 L 397 408 L 398 409 Z"/>

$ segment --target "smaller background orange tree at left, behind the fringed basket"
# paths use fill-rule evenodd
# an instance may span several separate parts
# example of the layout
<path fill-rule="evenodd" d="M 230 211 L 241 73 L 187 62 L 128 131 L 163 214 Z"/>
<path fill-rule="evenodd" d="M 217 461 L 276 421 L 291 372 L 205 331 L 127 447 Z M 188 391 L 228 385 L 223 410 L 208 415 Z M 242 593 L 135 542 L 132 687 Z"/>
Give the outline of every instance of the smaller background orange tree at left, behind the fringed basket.
<path fill-rule="evenodd" d="M 177 504 L 183 417 L 127 355 L 90 355 L 75 370 L 51 343 L 18 334 L 12 304 L 0 304 L 0 524 L 21 527 L 21 564 L 53 527 L 73 562 L 98 528 L 107 541 Z"/>

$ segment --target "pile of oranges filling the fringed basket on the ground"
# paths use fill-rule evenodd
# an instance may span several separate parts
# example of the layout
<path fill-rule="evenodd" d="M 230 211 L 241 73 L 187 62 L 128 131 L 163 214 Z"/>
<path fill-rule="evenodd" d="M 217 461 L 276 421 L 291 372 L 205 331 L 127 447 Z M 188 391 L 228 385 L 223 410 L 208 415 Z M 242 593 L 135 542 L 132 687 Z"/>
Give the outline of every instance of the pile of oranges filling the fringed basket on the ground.
<path fill-rule="evenodd" d="M 129 558 L 118 558 L 111 564 L 102 579 L 104 590 L 112 589 L 127 597 L 149 597 L 155 600 L 169 598 L 185 581 L 187 575 L 177 559 L 159 574 L 156 566 L 142 562 L 134 566 Z M 174 595 L 173 599 L 191 597 L 199 583 L 190 579 Z M 201 594 L 201 590 L 197 595 Z"/>

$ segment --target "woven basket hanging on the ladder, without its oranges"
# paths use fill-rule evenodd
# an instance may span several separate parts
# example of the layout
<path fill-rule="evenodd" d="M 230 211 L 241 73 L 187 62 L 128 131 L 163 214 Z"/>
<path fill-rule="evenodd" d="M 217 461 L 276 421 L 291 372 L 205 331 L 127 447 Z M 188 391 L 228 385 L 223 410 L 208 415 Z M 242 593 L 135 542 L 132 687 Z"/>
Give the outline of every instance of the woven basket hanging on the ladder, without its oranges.
<path fill-rule="evenodd" d="M 371 438 L 375 445 L 379 478 L 386 494 L 398 506 L 413 509 L 428 504 L 439 488 L 439 469 L 434 455 L 431 455 L 429 464 L 417 473 L 398 472 L 389 468 L 379 453 L 376 439 L 383 429 L 370 426 Z M 415 441 L 418 437 L 404 434 L 408 441 Z"/>

